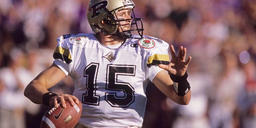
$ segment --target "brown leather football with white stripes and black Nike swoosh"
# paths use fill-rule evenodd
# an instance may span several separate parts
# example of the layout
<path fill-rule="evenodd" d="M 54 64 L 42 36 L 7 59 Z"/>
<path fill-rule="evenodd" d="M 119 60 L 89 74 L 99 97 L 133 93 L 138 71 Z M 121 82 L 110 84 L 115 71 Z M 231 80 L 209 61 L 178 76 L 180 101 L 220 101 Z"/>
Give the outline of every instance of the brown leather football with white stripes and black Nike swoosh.
<path fill-rule="evenodd" d="M 68 101 L 66 108 L 50 108 L 41 120 L 40 128 L 74 128 L 82 114 L 82 103 L 71 106 Z"/>

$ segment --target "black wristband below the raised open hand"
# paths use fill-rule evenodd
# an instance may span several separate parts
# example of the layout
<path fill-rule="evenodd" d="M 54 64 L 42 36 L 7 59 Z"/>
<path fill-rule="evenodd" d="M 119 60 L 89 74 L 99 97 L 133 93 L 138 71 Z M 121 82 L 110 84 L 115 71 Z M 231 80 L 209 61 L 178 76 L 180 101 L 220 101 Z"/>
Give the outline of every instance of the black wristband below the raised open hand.
<path fill-rule="evenodd" d="M 188 80 L 187 80 L 188 78 L 187 72 L 185 72 L 183 76 L 176 76 L 172 74 L 169 74 L 169 75 L 172 81 L 174 82 L 173 87 L 176 94 L 178 94 L 178 96 L 184 96 L 185 94 L 187 94 L 188 91 L 190 90 L 190 84 L 188 83 Z"/>

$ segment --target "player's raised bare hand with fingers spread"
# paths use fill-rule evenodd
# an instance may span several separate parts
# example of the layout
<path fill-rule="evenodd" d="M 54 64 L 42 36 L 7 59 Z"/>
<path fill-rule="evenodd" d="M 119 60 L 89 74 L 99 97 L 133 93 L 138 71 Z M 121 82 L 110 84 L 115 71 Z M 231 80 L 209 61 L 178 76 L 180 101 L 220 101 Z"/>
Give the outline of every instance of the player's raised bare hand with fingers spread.
<path fill-rule="evenodd" d="M 158 66 L 160 68 L 163 68 L 164 70 L 167 70 L 169 74 L 183 76 L 188 68 L 188 64 L 190 63 L 192 57 L 189 56 L 188 59 L 185 60 L 187 49 L 183 48 L 183 46 L 180 46 L 178 56 L 176 56 L 174 47 L 172 45 L 170 46 L 170 48 L 172 56 L 171 62 L 168 65 L 159 64 Z"/>

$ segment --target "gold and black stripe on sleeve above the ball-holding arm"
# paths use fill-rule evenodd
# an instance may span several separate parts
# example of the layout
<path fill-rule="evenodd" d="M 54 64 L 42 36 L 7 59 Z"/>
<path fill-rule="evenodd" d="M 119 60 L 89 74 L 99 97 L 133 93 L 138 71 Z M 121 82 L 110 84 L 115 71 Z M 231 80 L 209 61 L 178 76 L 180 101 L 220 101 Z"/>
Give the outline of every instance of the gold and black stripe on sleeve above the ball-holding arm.
<path fill-rule="evenodd" d="M 62 47 L 56 47 L 53 54 L 53 58 L 63 60 L 68 64 L 72 62 L 72 58 L 69 50 Z"/>

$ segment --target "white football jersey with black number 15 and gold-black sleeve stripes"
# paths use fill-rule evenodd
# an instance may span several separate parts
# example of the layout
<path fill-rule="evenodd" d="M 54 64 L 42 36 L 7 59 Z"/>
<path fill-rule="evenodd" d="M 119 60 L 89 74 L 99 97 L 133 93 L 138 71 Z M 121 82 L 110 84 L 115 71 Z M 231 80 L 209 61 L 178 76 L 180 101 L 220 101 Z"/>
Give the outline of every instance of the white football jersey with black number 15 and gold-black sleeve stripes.
<path fill-rule="evenodd" d="M 73 78 L 73 95 L 83 103 L 80 123 L 92 128 L 142 126 L 146 85 L 169 63 L 168 43 L 149 36 L 127 39 L 117 48 L 94 34 L 57 39 L 54 63 Z"/>

